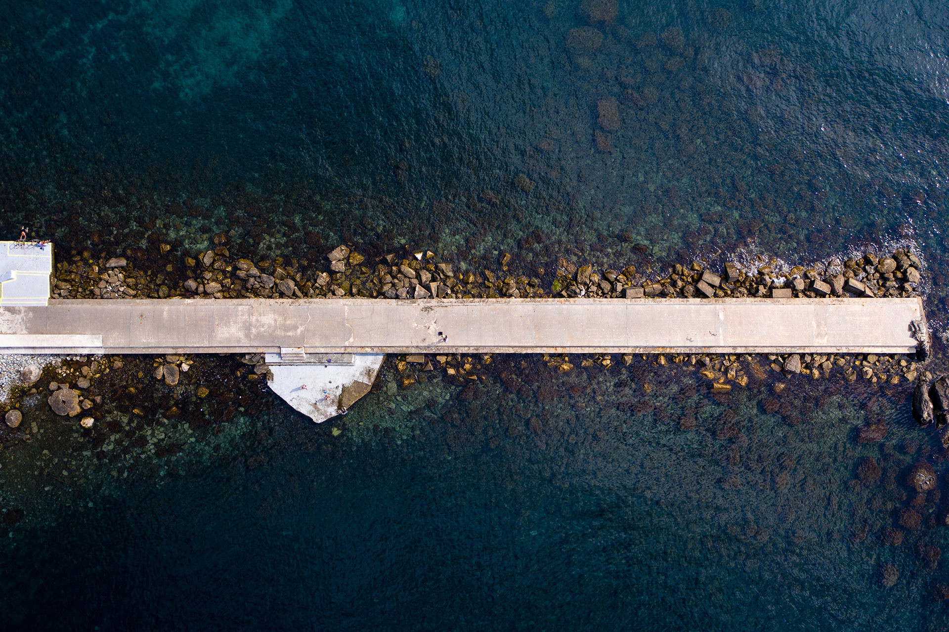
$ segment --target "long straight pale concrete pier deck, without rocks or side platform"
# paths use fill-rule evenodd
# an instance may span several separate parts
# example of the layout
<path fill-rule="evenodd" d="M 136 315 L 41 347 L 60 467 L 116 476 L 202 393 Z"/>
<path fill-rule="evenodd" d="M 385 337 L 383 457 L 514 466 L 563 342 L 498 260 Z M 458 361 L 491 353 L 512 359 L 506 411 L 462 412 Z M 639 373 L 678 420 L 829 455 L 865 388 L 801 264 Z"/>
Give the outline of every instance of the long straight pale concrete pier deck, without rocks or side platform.
<path fill-rule="evenodd" d="M 0 307 L 0 353 L 912 353 L 914 321 L 919 298 L 50 300 Z"/>

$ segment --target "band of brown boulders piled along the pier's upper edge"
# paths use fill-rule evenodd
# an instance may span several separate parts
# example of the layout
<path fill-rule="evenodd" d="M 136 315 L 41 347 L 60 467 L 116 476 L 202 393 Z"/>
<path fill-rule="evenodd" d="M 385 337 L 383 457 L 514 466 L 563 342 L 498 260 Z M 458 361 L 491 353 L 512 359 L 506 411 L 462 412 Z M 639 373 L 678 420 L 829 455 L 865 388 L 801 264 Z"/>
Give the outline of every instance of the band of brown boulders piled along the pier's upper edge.
<path fill-rule="evenodd" d="M 224 233 L 214 250 L 194 257 L 170 256 L 158 246 L 158 260 L 136 263 L 91 251 L 57 263 L 53 298 L 742 298 L 747 296 L 842 297 L 915 296 L 922 264 L 912 251 L 890 256 L 866 253 L 859 259 L 831 259 L 784 269 L 763 259 L 754 270 L 727 262 L 712 270 L 698 261 L 674 264 L 667 273 L 622 269 L 593 270 L 559 257 L 548 270 L 515 272 L 512 255 L 502 252 L 495 270 L 456 271 L 432 251 L 385 254 L 371 263 L 348 246 L 326 255 L 324 265 L 280 257 L 251 261 L 234 257 Z M 134 251 L 131 251 L 134 252 Z M 163 268 L 161 263 L 164 264 Z M 158 264 L 158 266 L 156 265 Z M 528 274 L 531 274 L 530 276 Z M 547 280 L 547 282 L 545 282 Z"/>

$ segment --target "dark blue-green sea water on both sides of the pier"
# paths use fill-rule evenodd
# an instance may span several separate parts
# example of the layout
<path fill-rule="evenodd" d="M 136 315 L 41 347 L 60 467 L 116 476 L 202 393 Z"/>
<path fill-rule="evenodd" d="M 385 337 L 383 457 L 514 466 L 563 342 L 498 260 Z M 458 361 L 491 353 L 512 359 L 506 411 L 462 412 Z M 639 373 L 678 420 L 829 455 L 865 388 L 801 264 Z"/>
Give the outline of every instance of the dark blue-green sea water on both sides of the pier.
<path fill-rule="evenodd" d="M 504 250 L 524 270 L 899 244 L 926 265 L 938 335 L 947 45 L 945 5 L 926 0 L 6 2 L 2 227 L 62 254 L 157 238 L 194 253 L 229 232 L 250 257 L 323 262 L 346 241 L 475 268 Z M 771 383 L 716 399 L 645 362 L 503 362 L 523 387 L 401 390 L 390 366 L 321 426 L 263 392 L 175 467 L 70 485 L 49 416 L 42 441 L 0 452 L 0 510 L 25 516 L 0 524 L 0 622 L 949 626 L 946 563 L 929 559 L 947 528 L 887 544 L 914 462 L 940 473 L 921 511 L 949 510 L 908 387 L 795 378 L 775 414 Z M 870 419 L 889 434 L 859 445 Z M 879 482 L 857 474 L 867 456 Z"/>

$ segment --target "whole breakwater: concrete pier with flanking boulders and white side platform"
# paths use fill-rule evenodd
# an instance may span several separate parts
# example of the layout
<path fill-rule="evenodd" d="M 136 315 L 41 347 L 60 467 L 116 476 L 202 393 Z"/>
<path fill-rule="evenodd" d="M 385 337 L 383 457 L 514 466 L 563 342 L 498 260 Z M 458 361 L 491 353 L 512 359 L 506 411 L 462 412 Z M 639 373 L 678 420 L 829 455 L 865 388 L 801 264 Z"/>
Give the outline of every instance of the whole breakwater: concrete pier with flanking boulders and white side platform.
<path fill-rule="evenodd" d="M 326 255 L 323 266 L 328 270 L 318 270 L 321 266 L 302 260 L 235 259 L 223 236 L 215 241 L 213 251 L 195 258 L 171 256 L 170 246 L 158 245 L 159 255 L 169 255 L 163 270 L 160 257 L 142 266 L 135 250 L 126 252 L 129 258 L 73 254 L 56 266 L 54 300 L 42 312 L 46 320 L 38 318 L 40 312 L 9 312 L 0 336 L 6 342 L 0 344 L 50 353 L 247 353 L 254 357 L 254 375 L 266 373 L 271 387 L 290 401 L 314 398 L 294 393 L 284 381 L 339 381 L 340 372 L 349 370 L 344 366 L 353 364 L 317 362 L 313 354 L 320 353 L 378 355 L 370 362 L 371 375 L 361 379 L 368 383 L 360 381 L 363 386 L 356 389 L 359 396 L 374 379 L 381 354 L 398 352 L 445 358 L 436 362 L 446 371 L 456 370 L 449 366 L 452 354 L 463 371 L 471 363 L 462 361 L 464 354 L 546 353 L 546 362 L 559 362 L 561 370 L 569 370 L 572 364 L 565 353 L 598 354 L 581 362 L 606 365 L 612 362 L 610 354 L 625 362 L 633 352 L 671 353 L 672 362 L 698 365 L 713 390 L 725 390 L 732 383 L 747 383 L 735 354 L 751 357 L 748 354 L 761 352 L 769 354 L 760 360 L 764 366 L 785 374 L 911 381 L 918 373 L 912 356 L 928 338 L 921 302 L 910 298 L 921 282 L 921 262 L 904 250 L 808 268 L 762 260 L 754 270 L 738 269 L 731 262 L 712 270 L 691 262 L 673 265 L 667 275 L 648 265 L 646 273 L 635 266 L 599 272 L 560 258 L 552 270 L 538 268 L 537 276 L 528 277 L 509 272 L 512 257 L 505 253 L 498 260 L 499 271 L 482 274 L 456 271 L 452 263 L 436 261 L 430 251 L 407 251 L 405 258 L 387 254 L 372 268 L 362 254 L 340 246 Z M 880 296 L 887 299 L 876 298 Z M 81 297 L 153 300 L 121 302 L 131 310 L 97 300 L 56 300 Z M 257 297 L 270 301 L 254 301 Z M 161 300 L 171 298 L 238 300 Z M 365 301 L 368 298 L 413 300 Z M 646 300 L 598 302 L 602 299 Z M 75 323 L 101 326 L 86 331 Z M 317 325 L 307 328 L 309 323 Z M 26 339 L 16 338 L 24 335 L 41 343 L 30 347 Z M 76 340 L 61 340 L 64 335 Z M 264 353 L 269 353 L 266 361 Z M 704 355 L 716 353 L 726 355 L 712 360 Z M 864 355 L 847 355 L 854 353 Z M 561 354 L 562 360 L 549 354 Z M 665 355 L 658 358 L 662 362 L 657 364 L 665 363 Z M 307 363 L 323 366 L 324 373 L 335 377 L 326 373 L 323 379 L 310 372 L 304 378 L 301 371 L 310 369 L 299 364 Z M 175 365 L 162 364 L 177 382 Z M 159 380 L 168 381 L 166 369 L 157 372 Z M 331 405 L 321 405 L 326 410 L 319 415 L 291 404 L 321 420 L 344 412 L 359 397 L 354 392 L 321 391 Z"/>

